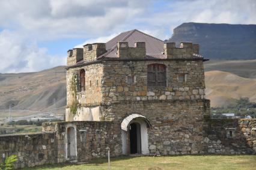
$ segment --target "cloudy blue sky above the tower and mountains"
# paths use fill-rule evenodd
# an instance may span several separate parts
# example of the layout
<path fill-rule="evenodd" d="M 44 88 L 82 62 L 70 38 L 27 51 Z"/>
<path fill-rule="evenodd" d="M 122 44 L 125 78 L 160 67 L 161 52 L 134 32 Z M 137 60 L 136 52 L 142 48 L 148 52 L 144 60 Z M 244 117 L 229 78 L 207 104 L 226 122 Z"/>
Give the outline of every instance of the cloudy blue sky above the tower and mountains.
<path fill-rule="evenodd" d="M 166 40 L 184 22 L 256 24 L 255 0 L 1 0 L 0 72 L 66 65 L 67 50 L 139 29 Z"/>

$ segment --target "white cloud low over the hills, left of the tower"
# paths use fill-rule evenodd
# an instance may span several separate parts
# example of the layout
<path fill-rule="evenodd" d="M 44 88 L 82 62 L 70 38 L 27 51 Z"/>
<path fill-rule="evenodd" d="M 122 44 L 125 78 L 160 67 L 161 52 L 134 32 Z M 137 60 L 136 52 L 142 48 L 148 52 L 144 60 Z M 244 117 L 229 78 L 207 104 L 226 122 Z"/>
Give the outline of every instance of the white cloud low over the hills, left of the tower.
<path fill-rule="evenodd" d="M 65 65 L 66 57 L 50 56 L 46 48 L 15 32 L 0 32 L 0 72 L 31 72 Z"/>

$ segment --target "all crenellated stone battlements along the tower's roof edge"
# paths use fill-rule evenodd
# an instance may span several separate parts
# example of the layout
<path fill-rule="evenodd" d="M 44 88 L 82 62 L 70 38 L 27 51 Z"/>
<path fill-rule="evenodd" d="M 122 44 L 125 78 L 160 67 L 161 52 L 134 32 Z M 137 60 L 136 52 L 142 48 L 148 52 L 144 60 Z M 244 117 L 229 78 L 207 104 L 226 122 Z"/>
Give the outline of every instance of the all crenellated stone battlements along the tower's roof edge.
<path fill-rule="evenodd" d="M 175 42 L 165 42 L 163 51 L 159 55 L 165 55 L 166 59 L 193 59 L 193 54 L 199 54 L 199 48 L 198 44 L 192 44 L 192 42 L 181 42 L 180 47 L 176 47 Z M 106 52 L 105 43 L 85 44 L 84 48 L 73 48 L 67 51 L 67 66 L 75 65 L 81 60 L 93 62 Z M 135 42 L 134 47 L 129 47 L 128 42 L 119 41 L 116 54 L 117 59 L 146 59 L 146 44 Z"/>

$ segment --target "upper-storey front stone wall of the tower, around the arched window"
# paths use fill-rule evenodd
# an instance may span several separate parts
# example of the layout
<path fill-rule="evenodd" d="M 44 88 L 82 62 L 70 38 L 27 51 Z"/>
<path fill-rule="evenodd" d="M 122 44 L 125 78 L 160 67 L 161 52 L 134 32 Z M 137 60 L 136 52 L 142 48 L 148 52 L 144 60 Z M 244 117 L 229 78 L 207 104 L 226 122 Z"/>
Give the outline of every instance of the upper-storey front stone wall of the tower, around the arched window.
<path fill-rule="evenodd" d="M 152 63 L 165 64 L 166 87 L 147 86 L 147 65 Z M 103 102 L 205 98 L 203 60 L 111 60 L 103 64 Z M 186 74 L 186 82 L 178 82 L 179 74 Z M 136 80 L 129 84 L 131 75 Z"/>

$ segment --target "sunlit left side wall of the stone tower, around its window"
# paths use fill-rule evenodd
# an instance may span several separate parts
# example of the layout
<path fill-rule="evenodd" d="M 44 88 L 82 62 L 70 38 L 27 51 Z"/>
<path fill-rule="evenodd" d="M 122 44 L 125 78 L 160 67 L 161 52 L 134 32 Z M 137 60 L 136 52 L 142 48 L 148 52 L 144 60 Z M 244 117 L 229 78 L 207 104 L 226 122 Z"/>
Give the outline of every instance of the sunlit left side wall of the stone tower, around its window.
<path fill-rule="evenodd" d="M 75 120 L 94 120 L 85 119 L 90 117 L 94 107 L 100 105 L 102 102 L 102 76 L 103 67 L 100 63 L 93 65 L 81 66 L 79 68 L 70 68 L 67 70 L 67 108 L 66 108 L 66 120 L 72 121 L 74 119 L 73 114 L 70 113 L 70 105 L 73 102 L 73 95 L 71 90 L 72 77 L 77 71 L 85 69 L 85 90 L 77 92 L 77 100 L 79 103 L 78 114 L 75 116 Z M 96 109 L 97 110 L 97 109 Z M 97 116 L 100 117 L 99 109 L 97 110 Z M 85 115 L 82 115 L 85 114 Z M 82 118 L 84 117 L 84 119 Z M 97 119 L 99 120 L 99 119 Z"/>

